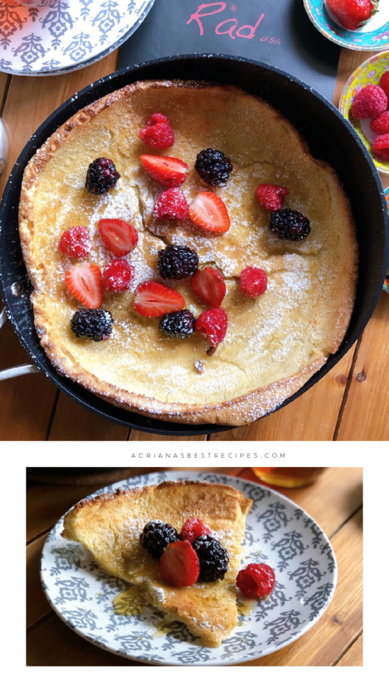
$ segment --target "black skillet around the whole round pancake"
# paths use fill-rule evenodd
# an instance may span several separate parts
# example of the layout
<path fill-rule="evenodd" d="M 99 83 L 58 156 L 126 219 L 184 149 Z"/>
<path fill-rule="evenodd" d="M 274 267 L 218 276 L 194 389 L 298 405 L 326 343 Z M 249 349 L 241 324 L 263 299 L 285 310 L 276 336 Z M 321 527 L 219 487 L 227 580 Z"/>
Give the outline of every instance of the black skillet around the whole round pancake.
<path fill-rule="evenodd" d="M 145 418 L 104 402 L 56 372 L 47 359 L 33 326 L 28 277 L 22 259 L 17 208 L 24 167 L 36 149 L 77 110 L 106 94 L 140 79 L 199 79 L 235 84 L 258 94 L 278 108 L 304 136 L 315 158 L 328 161 L 338 172 L 354 211 L 360 252 L 359 278 L 354 312 L 345 339 L 319 372 L 279 408 L 306 392 L 333 368 L 363 331 L 379 299 L 389 254 L 389 217 L 381 181 L 370 154 L 345 118 L 329 101 L 295 77 L 246 58 L 223 55 L 172 56 L 133 65 L 93 83 L 66 101 L 40 126 L 20 154 L 10 174 L 0 207 L 0 288 L 8 316 L 22 345 L 40 370 L 61 391 L 90 411 L 121 425 L 171 435 L 204 435 L 226 427 L 179 425 Z M 260 123 L 258 123 L 260 127 Z M 24 286 L 13 295 L 15 282 Z M 325 415 L 325 411 L 323 412 Z"/>

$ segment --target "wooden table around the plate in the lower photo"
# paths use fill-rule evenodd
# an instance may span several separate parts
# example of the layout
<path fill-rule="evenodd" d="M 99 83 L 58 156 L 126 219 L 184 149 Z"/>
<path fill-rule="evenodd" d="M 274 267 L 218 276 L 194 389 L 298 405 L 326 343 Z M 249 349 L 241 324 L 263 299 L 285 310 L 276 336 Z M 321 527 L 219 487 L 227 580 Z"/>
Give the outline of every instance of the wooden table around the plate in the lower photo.
<path fill-rule="evenodd" d="M 255 479 L 250 469 L 211 470 Z M 129 477 L 128 470 L 124 477 Z M 74 502 L 104 483 L 105 479 L 88 486 L 27 486 L 28 666 L 138 665 L 97 648 L 69 629 L 53 613 L 40 586 L 40 553 L 49 530 Z M 313 516 L 331 539 L 338 560 L 338 586 L 329 609 L 308 634 L 279 652 L 240 665 L 362 666 L 362 485 L 362 468 L 329 468 L 313 486 L 282 491 Z"/>

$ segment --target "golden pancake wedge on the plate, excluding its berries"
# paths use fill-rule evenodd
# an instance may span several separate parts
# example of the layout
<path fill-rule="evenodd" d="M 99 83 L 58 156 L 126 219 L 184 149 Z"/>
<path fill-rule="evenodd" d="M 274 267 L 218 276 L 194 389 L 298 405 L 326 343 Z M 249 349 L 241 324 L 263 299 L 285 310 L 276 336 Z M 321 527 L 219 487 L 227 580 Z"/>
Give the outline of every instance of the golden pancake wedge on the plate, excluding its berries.
<path fill-rule="evenodd" d="M 236 627 L 235 579 L 240 566 L 245 520 L 252 502 L 235 488 L 197 481 L 119 489 L 84 500 L 67 513 L 63 537 L 83 543 L 110 574 L 133 584 L 167 622 L 179 620 L 207 646 L 220 646 Z M 158 560 L 139 542 L 147 522 L 160 519 L 178 531 L 197 516 L 229 552 L 223 581 L 182 588 L 160 577 Z"/>

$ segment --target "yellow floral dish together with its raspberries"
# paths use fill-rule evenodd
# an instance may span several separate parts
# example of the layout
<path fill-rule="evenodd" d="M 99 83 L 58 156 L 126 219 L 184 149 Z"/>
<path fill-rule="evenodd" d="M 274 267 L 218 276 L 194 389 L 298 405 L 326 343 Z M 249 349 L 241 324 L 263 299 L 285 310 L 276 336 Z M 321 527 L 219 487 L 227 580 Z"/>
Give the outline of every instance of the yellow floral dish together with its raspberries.
<path fill-rule="evenodd" d="M 339 110 L 370 151 L 381 173 L 389 173 L 389 51 L 360 65 L 345 84 Z"/>

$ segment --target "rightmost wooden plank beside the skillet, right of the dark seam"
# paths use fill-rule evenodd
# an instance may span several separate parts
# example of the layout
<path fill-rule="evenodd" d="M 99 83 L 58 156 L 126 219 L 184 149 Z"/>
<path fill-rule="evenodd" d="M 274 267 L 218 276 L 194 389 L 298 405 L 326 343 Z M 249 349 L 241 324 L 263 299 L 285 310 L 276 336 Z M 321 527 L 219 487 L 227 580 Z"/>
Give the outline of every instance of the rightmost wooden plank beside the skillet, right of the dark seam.
<path fill-rule="evenodd" d="M 382 293 L 358 350 L 338 440 L 389 439 L 389 295 Z"/>

